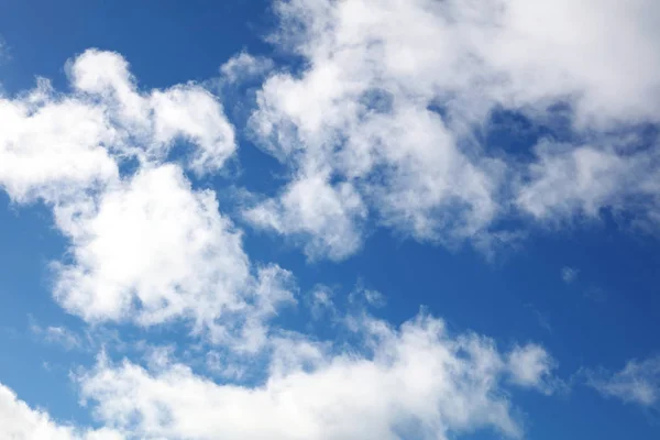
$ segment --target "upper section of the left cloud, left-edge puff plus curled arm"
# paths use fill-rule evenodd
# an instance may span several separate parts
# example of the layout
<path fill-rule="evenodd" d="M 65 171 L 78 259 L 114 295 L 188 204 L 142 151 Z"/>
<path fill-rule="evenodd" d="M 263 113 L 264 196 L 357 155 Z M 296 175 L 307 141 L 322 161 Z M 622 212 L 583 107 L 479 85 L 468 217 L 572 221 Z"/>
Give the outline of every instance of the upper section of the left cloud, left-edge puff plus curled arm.
<path fill-rule="evenodd" d="M 194 84 L 142 94 L 128 63 L 90 50 L 70 61 L 74 91 L 45 79 L 24 95 L 0 98 L 0 186 L 16 201 L 57 201 L 119 178 L 119 164 L 160 162 L 177 140 L 196 147 L 187 166 L 215 172 L 234 152 L 222 107 Z"/>

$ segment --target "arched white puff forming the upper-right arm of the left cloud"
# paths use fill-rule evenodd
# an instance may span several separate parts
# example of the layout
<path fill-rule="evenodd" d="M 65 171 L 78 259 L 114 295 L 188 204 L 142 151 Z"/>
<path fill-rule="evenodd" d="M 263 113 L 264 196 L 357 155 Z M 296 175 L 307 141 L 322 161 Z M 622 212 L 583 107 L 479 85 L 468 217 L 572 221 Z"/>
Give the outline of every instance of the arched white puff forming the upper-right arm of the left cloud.
<path fill-rule="evenodd" d="M 198 174 L 217 172 L 234 152 L 234 132 L 222 106 L 195 84 L 141 94 L 121 55 L 89 50 L 69 63 L 74 87 L 101 97 L 113 122 L 139 145 L 123 150 L 143 161 L 163 160 L 174 141 L 189 140 L 197 148 L 188 166 Z"/>

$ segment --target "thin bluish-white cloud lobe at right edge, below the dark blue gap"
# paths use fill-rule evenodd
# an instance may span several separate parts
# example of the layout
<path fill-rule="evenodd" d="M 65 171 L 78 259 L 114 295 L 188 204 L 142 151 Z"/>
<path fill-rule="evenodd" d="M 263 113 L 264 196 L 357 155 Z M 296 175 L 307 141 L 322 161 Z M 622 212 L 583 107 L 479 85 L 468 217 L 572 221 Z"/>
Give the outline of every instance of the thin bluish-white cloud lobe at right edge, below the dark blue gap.
<path fill-rule="evenodd" d="M 639 140 L 624 145 L 571 147 L 540 144 L 538 162 L 517 204 L 540 220 L 597 219 L 601 210 L 634 212 L 634 226 L 648 228 L 660 220 L 658 145 L 640 150 Z"/>

